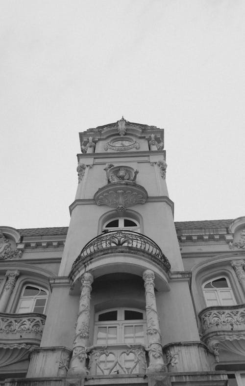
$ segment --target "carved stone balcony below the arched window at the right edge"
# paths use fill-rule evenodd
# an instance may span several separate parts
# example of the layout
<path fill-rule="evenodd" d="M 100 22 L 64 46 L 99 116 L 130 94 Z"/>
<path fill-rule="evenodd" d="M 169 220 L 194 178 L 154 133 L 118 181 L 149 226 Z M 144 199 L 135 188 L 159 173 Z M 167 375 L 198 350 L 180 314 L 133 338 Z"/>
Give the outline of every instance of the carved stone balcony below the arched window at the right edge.
<path fill-rule="evenodd" d="M 207 307 L 199 319 L 201 339 L 217 361 L 221 349 L 245 355 L 245 304 Z"/>

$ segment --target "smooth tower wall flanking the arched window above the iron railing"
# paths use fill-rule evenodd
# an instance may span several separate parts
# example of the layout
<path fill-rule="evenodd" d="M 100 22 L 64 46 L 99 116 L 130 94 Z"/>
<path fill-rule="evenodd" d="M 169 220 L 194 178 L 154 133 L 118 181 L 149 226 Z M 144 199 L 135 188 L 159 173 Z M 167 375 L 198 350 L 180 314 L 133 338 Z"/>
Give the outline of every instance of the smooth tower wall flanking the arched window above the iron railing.
<path fill-rule="evenodd" d="M 166 202 L 147 202 L 130 209 L 140 212 L 144 221 L 144 234 L 163 250 L 172 265 L 172 271 L 183 270 L 171 207 Z M 101 233 L 101 229 L 98 231 L 99 218 L 109 211 L 109 207 L 95 204 L 77 205 L 73 209 L 59 276 L 69 275 L 81 249 Z M 115 210 L 115 217 L 118 216 Z"/>

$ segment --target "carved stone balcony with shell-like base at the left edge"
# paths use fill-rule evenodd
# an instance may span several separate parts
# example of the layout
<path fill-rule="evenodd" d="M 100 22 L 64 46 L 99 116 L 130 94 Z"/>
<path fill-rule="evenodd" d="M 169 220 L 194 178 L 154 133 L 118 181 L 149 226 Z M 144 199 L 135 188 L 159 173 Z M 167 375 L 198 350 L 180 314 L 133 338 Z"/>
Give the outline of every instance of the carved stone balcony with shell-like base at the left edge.
<path fill-rule="evenodd" d="M 28 358 L 39 347 L 46 315 L 0 313 L 0 367 Z"/>

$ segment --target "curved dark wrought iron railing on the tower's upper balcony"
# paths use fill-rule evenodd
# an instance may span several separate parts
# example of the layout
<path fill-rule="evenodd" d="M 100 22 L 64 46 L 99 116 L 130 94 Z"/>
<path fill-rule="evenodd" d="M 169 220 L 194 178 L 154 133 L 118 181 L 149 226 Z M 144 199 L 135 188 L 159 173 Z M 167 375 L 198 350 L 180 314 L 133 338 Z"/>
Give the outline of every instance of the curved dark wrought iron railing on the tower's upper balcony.
<path fill-rule="evenodd" d="M 151 240 L 149 237 L 132 231 L 127 230 L 116 230 L 107 233 L 102 233 L 96 236 L 85 247 L 81 250 L 81 253 L 73 263 L 73 268 L 81 262 L 86 260 L 88 257 L 97 253 L 108 253 L 112 248 L 115 251 L 123 251 L 130 253 L 130 251 L 141 251 L 147 254 L 152 260 L 157 260 L 161 265 L 164 266 L 166 271 L 169 271 L 171 266 L 169 260 L 162 252 L 161 248 Z"/>

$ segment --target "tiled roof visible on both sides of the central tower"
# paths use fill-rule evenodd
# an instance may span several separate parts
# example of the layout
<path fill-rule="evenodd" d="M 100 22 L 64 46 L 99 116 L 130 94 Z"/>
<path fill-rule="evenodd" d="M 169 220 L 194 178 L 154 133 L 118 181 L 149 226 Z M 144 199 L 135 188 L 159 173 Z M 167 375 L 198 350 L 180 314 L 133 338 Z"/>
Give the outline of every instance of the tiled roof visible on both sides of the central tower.
<path fill-rule="evenodd" d="M 176 221 L 174 222 L 176 231 L 187 229 L 212 229 L 228 228 L 233 220 L 204 220 L 204 221 Z M 66 235 L 68 226 L 52 228 L 25 228 L 18 229 L 21 236 L 57 236 Z"/>

